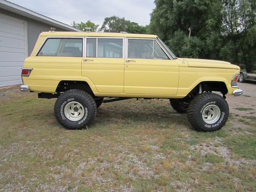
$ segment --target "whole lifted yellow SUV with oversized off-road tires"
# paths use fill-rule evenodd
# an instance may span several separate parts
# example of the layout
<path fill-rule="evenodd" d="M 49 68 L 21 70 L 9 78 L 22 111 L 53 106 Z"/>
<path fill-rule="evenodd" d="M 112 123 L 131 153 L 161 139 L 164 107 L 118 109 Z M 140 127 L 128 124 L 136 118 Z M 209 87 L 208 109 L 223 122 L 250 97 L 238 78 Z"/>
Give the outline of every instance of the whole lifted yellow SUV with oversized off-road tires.
<path fill-rule="evenodd" d="M 44 32 L 24 62 L 20 90 L 57 98 L 54 114 L 68 129 L 90 125 L 102 102 L 166 98 L 207 132 L 227 121 L 225 95 L 242 94 L 239 74 L 229 62 L 177 58 L 156 35 Z"/>

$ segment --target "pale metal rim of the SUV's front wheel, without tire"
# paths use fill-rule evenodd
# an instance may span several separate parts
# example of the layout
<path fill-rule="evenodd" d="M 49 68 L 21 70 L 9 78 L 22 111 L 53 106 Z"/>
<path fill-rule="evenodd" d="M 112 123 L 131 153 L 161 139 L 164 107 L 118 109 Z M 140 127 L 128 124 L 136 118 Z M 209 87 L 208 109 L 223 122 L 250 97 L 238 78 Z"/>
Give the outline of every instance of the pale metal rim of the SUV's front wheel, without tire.
<path fill-rule="evenodd" d="M 202 118 L 204 122 L 208 124 L 215 123 L 218 121 L 218 119 L 221 116 L 221 110 L 219 106 L 215 104 L 210 104 L 204 108 L 203 113 L 202 113 Z"/>

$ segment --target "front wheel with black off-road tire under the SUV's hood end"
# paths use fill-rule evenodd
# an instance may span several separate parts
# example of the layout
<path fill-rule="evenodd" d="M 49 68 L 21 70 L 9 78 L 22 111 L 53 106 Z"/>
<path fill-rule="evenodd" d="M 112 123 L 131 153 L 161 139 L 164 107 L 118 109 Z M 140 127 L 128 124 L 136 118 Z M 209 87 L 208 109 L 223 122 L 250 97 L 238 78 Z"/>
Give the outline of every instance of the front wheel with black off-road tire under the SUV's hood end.
<path fill-rule="evenodd" d="M 202 132 L 220 130 L 228 119 L 227 101 L 215 93 L 202 93 L 188 106 L 187 118 L 194 129 Z"/>

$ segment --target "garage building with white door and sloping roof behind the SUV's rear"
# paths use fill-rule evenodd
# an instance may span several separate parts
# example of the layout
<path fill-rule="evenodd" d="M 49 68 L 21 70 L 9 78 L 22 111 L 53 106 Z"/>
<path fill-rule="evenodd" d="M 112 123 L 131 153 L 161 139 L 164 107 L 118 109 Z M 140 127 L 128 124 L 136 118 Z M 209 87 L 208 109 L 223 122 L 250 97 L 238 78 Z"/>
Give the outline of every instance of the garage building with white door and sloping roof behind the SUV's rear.
<path fill-rule="evenodd" d="M 42 31 L 80 31 L 11 2 L 0 0 L 0 87 L 21 84 L 24 59 Z"/>

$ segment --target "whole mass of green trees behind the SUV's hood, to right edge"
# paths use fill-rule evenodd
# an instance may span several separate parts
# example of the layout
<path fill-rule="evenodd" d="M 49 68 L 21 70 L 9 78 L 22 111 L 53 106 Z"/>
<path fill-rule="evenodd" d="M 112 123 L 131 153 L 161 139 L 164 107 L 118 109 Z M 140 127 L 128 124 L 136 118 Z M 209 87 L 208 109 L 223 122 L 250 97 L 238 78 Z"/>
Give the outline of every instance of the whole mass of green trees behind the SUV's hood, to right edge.
<path fill-rule="evenodd" d="M 255 0 L 155 0 L 155 4 L 150 33 L 179 57 L 222 59 L 253 70 Z"/>

